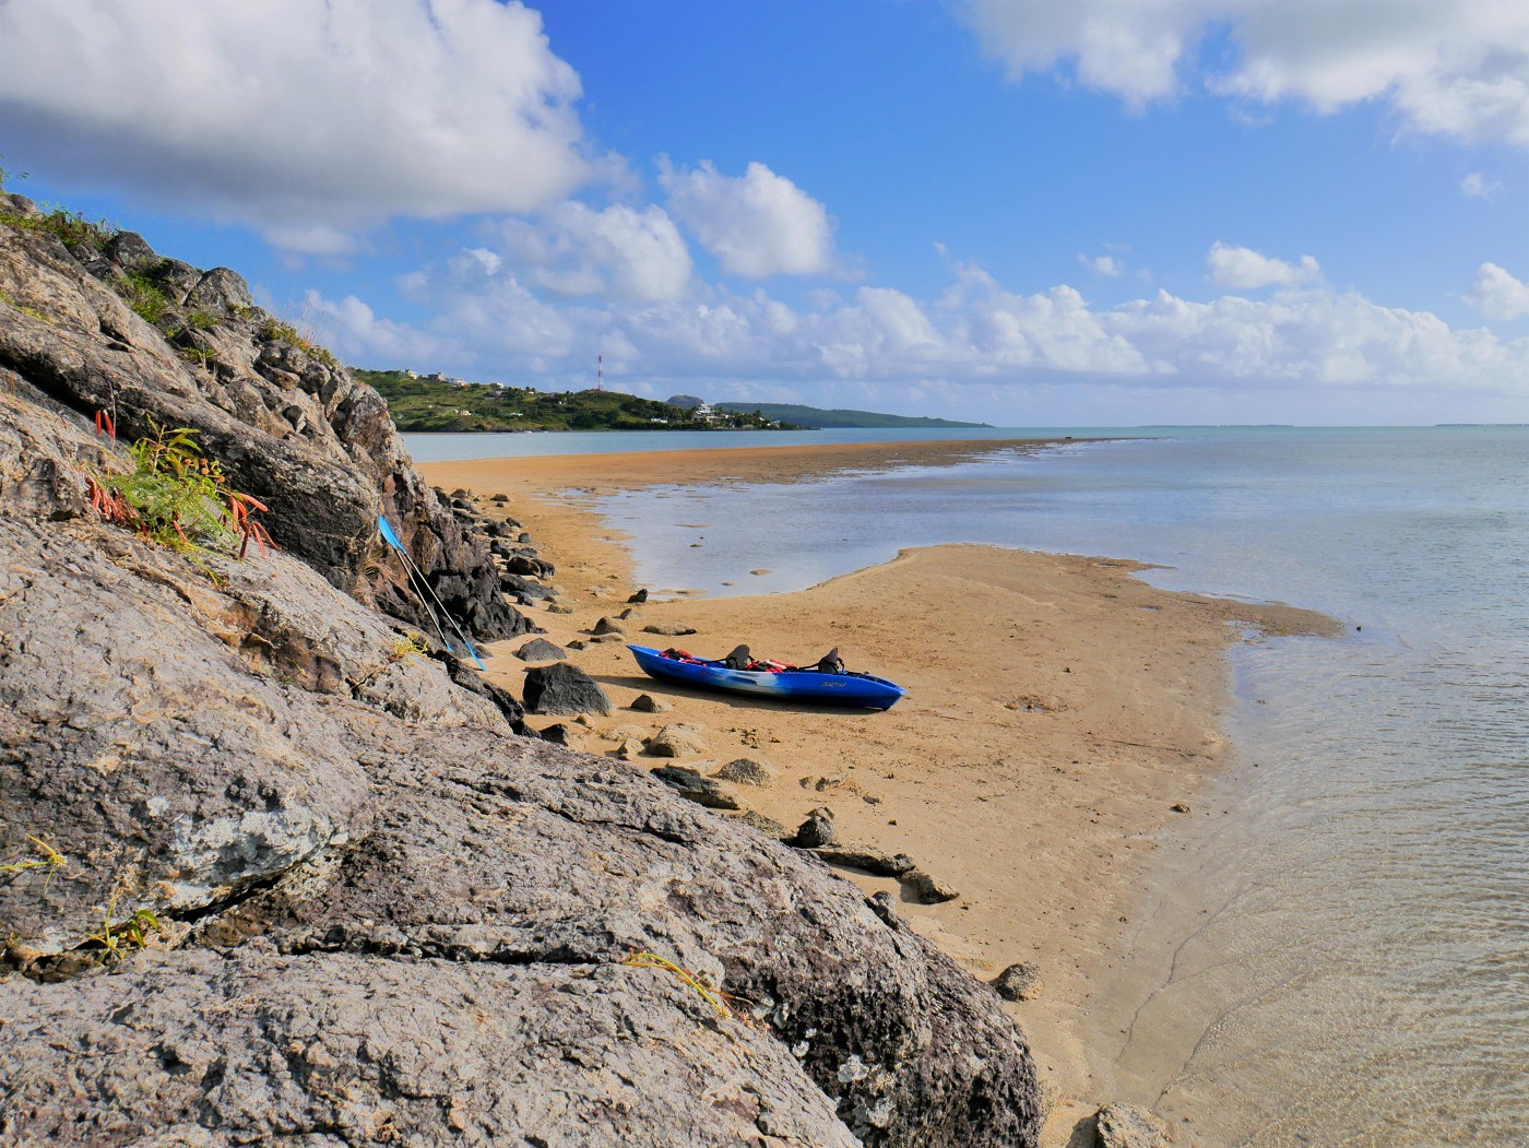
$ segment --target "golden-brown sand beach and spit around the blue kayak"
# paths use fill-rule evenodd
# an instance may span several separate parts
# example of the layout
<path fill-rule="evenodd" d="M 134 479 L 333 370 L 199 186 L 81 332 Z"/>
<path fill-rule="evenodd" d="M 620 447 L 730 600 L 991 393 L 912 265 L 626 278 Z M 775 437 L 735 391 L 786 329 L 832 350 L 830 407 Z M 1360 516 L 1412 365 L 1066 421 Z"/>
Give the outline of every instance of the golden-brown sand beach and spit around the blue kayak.
<path fill-rule="evenodd" d="M 786 482 L 844 468 L 939 465 L 1015 443 L 885 443 L 661 454 L 498 459 L 422 466 L 437 486 L 505 492 L 508 511 L 558 564 L 572 615 L 529 611 L 558 645 L 589 639 L 625 608 L 630 558 L 619 535 L 570 491 L 726 478 Z M 491 504 L 488 504 L 491 506 Z M 908 697 L 887 712 L 820 711 L 687 689 L 644 677 L 619 642 L 573 651 L 618 706 L 595 718 L 590 752 L 615 752 L 624 726 L 705 729 L 705 752 L 677 764 L 714 772 L 737 757 L 780 770 L 769 787 L 734 787 L 787 827 L 833 810 L 842 839 L 907 853 L 960 891 L 942 905 L 902 903 L 924 936 L 979 977 L 1031 962 L 1043 984 L 1008 1006 L 1058 1101 L 1043 1143 L 1064 1145 L 1101 1102 L 1105 1052 L 1081 1038 L 1079 1017 L 1125 952 L 1127 920 L 1147 896 L 1148 868 L 1174 804 L 1194 807 L 1199 780 L 1229 749 L 1225 650 L 1249 634 L 1323 633 L 1330 619 L 1283 605 L 1156 590 L 1102 558 L 988 546 L 905 550 L 894 561 L 800 593 L 650 601 L 624 622 L 628 640 L 720 657 L 739 642 L 755 656 L 813 662 L 838 647 L 852 670 L 890 677 Z M 748 579 L 746 570 L 737 572 Z M 650 624 L 696 628 L 685 637 Z M 524 663 L 492 648 L 491 677 L 520 696 Z M 639 694 L 665 714 L 628 709 Z M 532 717 L 537 728 L 561 718 Z M 676 764 L 638 758 L 636 766 Z M 867 891 L 899 887 L 852 871 Z"/>

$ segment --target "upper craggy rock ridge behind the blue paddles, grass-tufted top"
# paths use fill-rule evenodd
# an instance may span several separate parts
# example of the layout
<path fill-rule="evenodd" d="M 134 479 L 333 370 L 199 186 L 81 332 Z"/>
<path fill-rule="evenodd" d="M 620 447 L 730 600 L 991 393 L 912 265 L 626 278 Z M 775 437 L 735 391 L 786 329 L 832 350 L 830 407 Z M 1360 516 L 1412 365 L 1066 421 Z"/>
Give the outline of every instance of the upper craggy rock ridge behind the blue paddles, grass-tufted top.
<path fill-rule="evenodd" d="M 161 258 L 131 232 L 66 246 L 20 196 L 0 194 L 0 214 L 20 220 L 0 223 L 0 368 L 86 420 L 106 411 L 124 439 L 196 428 L 234 488 L 271 508 L 277 543 L 347 593 L 430 625 L 402 570 L 387 576 L 385 514 L 469 633 L 531 628 L 413 469 L 382 397 L 255 307 L 239 275 Z"/>

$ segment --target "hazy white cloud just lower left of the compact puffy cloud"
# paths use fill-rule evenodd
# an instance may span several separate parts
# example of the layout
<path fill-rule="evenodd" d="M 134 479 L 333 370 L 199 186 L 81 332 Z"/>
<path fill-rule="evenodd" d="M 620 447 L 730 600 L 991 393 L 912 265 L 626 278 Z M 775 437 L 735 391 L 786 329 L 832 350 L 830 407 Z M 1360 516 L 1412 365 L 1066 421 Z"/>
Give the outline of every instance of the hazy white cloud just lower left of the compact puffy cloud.
<path fill-rule="evenodd" d="M 567 202 L 537 222 L 506 220 L 497 232 L 526 283 L 563 298 L 654 303 L 682 298 L 690 284 L 690 249 L 653 205 L 593 211 Z"/>

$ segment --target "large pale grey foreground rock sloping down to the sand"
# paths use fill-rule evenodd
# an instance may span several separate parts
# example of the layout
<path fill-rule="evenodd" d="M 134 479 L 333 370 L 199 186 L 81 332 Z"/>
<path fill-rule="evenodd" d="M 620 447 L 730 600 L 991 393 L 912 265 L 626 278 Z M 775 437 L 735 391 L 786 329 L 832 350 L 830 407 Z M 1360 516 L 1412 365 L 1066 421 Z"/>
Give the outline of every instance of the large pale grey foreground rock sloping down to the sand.
<path fill-rule="evenodd" d="M 193 559 L 98 521 L 80 468 L 110 445 L 6 370 L 0 1139 L 1035 1142 L 1014 1023 L 887 906 L 518 737 L 512 699 L 313 555 Z"/>

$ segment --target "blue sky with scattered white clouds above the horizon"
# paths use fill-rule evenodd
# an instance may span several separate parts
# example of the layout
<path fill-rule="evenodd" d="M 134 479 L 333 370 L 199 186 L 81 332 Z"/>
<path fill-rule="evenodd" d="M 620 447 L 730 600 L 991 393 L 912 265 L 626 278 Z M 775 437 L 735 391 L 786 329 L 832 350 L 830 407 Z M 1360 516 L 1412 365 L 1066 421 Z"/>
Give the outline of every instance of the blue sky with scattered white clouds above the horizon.
<path fill-rule="evenodd" d="M 1521 0 L 0 0 L 0 167 L 356 367 L 1529 422 Z"/>

